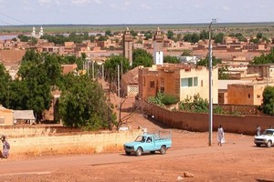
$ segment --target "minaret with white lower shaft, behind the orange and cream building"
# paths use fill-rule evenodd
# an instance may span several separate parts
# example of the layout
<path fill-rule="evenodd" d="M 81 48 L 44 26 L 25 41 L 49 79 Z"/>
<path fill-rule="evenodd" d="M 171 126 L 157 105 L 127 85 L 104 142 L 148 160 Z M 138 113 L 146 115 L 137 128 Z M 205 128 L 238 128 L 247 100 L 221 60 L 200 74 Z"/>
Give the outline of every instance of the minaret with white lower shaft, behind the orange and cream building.
<path fill-rule="evenodd" d="M 153 63 L 163 65 L 163 35 L 159 27 L 153 37 Z"/>

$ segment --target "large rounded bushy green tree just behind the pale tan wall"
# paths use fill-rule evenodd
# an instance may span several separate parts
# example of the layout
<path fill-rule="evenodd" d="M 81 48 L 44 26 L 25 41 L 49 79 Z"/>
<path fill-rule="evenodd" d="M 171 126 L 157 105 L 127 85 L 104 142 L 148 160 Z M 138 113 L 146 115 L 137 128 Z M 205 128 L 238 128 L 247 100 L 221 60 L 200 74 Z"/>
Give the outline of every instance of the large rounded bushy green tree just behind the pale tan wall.
<path fill-rule="evenodd" d="M 84 130 L 111 128 L 115 115 L 105 102 L 106 96 L 99 83 L 87 76 L 70 77 L 72 82 L 59 99 L 59 116 L 65 126 Z"/>

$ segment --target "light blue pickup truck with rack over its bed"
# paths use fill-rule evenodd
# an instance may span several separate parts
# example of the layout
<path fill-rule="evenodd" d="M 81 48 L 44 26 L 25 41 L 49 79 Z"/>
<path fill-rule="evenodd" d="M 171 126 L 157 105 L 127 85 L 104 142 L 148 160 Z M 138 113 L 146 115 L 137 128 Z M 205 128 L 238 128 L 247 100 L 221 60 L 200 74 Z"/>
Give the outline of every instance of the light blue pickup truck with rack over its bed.
<path fill-rule="evenodd" d="M 154 154 L 156 151 L 159 151 L 161 154 L 165 154 L 166 150 L 171 146 L 171 132 L 159 132 L 157 134 L 143 134 L 137 136 L 134 142 L 124 144 L 123 148 L 126 155 L 135 154 L 139 157 L 145 152 Z"/>

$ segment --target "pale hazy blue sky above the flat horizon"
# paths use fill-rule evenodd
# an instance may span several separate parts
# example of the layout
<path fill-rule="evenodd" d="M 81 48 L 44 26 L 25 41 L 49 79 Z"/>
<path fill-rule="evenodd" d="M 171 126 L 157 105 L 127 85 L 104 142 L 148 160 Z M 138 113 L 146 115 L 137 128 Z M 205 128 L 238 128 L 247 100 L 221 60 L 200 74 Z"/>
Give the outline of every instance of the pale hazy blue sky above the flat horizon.
<path fill-rule="evenodd" d="M 0 0 L 0 25 L 274 22 L 273 0 Z"/>

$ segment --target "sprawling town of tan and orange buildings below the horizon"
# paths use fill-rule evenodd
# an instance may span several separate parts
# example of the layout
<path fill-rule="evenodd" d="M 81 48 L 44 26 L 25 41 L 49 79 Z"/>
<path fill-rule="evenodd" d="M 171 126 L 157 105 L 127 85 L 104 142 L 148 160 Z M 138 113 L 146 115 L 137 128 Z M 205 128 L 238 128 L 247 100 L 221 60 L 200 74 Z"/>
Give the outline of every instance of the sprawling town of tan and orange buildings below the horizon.
<path fill-rule="evenodd" d="M 182 102 L 197 95 L 209 100 L 208 60 L 211 50 L 213 103 L 261 106 L 264 88 L 273 86 L 274 65 L 253 63 L 256 57 L 271 54 L 274 30 L 271 25 L 259 28 L 238 26 L 212 25 L 211 40 L 205 25 L 187 29 L 167 29 L 166 26 L 161 29 L 159 25 L 151 30 L 134 30 L 126 26 L 121 29 L 120 26 L 120 30 L 115 31 L 67 33 L 47 33 L 47 28 L 39 25 L 29 27 L 27 33 L 3 35 L 0 63 L 12 80 L 20 80 L 22 75 L 18 70 L 28 50 L 35 50 L 38 54 L 75 56 L 80 58 L 80 63 L 62 64 L 62 74 L 92 75 L 92 79 L 104 79 L 121 97 L 147 100 L 161 92 Z M 211 49 L 209 41 L 212 42 Z M 136 64 L 136 50 L 151 55 L 152 64 Z M 122 70 L 121 66 L 121 77 L 110 80 L 108 67 L 106 70 L 103 67 L 113 56 L 124 57 L 129 69 Z M 98 69 L 96 74 L 94 65 Z M 118 84 L 117 79 L 120 79 Z M 52 96 L 57 98 L 60 92 L 52 92 Z M 6 99 L 3 99 L 3 106 L 7 106 Z M 53 112 L 56 109 L 49 110 Z M 54 119 L 46 117 L 43 115 L 40 119 Z"/>

